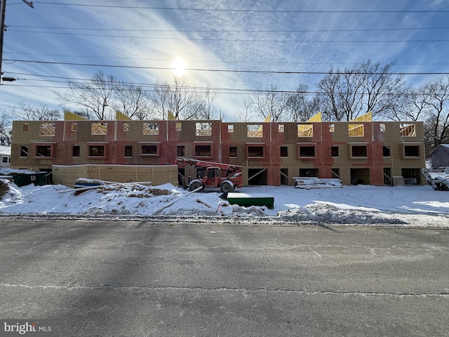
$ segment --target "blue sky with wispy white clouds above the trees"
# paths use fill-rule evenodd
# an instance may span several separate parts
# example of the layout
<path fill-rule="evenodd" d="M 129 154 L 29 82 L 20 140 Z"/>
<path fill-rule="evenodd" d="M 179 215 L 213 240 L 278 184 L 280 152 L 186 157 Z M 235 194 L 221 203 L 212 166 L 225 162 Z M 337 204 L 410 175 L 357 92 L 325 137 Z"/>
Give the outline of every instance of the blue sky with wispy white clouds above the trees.
<path fill-rule="evenodd" d="M 231 119 L 244 110 L 236 89 L 314 91 L 323 75 L 300 72 L 331 64 L 396 62 L 415 86 L 449 73 L 448 0 L 7 0 L 5 22 L 2 72 L 18 80 L 0 86 L 0 111 L 56 107 L 53 91 L 98 70 L 171 81 L 178 58 L 192 86 L 220 89 L 215 107 Z"/>

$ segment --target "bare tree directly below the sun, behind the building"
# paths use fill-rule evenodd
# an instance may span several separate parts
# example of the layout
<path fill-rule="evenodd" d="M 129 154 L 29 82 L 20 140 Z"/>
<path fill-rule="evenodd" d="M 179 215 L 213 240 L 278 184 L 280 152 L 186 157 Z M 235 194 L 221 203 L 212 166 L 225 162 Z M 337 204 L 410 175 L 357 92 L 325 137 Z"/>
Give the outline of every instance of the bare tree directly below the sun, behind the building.
<path fill-rule="evenodd" d="M 175 119 L 196 119 L 212 113 L 213 91 L 204 91 L 189 85 L 186 75 L 173 77 L 173 84 L 157 81 L 152 93 L 156 112 L 161 118 L 168 118 L 168 112 Z"/>

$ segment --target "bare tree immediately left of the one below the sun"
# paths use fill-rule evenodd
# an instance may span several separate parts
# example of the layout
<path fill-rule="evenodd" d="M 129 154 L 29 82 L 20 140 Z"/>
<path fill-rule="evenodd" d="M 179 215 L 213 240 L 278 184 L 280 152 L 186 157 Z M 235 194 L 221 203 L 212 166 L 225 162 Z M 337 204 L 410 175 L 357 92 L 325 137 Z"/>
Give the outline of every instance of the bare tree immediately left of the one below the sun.
<path fill-rule="evenodd" d="M 147 91 L 132 83 L 116 82 L 114 102 L 111 104 L 126 116 L 135 119 L 152 119 L 154 105 Z"/>

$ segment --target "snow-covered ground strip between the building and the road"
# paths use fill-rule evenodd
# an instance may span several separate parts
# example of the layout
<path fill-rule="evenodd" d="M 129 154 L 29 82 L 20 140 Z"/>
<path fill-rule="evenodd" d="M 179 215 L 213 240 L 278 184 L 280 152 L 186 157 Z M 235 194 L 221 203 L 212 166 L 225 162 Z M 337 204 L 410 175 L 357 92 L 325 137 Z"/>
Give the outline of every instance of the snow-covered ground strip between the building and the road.
<path fill-rule="evenodd" d="M 1 218 L 449 227 L 449 192 L 430 186 L 358 185 L 312 190 L 263 186 L 236 190 L 274 196 L 274 209 L 267 209 L 230 205 L 220 199 L 220 190 L 189 194 L 170 184 L 118 185 L 75 194 L 63 185 L 17 187 L 1 181 L 8 187 L 0 199 Z"/>

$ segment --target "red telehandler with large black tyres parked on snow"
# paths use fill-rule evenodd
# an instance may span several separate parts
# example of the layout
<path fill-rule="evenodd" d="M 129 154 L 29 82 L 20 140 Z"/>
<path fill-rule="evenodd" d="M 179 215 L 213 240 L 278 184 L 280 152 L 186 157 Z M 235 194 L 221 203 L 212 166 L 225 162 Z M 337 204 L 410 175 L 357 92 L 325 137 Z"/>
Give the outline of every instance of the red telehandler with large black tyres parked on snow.
<path fill-rule="evenodd" d="M 234 164 L 214 163 L 198 159 L 176 159 L 177 165 L 191 165 L 197 169 L 203 169 L 204 174 L 189 183 L 189 191 L 198 187 L 220 187 L 223 193 L 232 192 L 236 187 L 242 187 L 242 166 Z"/>

